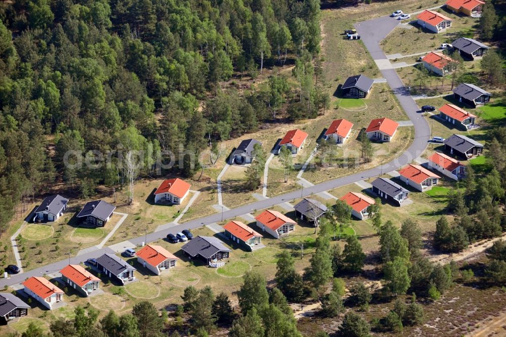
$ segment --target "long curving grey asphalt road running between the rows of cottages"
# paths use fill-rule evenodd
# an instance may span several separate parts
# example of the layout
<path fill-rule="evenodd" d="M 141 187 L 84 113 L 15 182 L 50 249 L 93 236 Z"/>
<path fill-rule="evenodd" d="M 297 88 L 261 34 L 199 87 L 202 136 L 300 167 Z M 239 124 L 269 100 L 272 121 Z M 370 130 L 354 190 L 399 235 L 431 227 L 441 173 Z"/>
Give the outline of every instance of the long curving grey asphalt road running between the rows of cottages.
<path fill-rule="evenodd" d="M 379 60 L 378 61 L 379 63 L 387 61 L 387 64 L 390 64 L 387 60 L 387 57 L 379 47 L 379 41 L 385 38 L 385 36 L 387 36 L 388 33 L 390 33 L 390 31 L 392 31 L 392 29 L 394 29 L 398 23 L 399 21 L 394 18 L 381 17 L 365 22 L 360 22 L 355 25 L 357 33 L 361 35 L 365 47 L 368 49 L 369 53 L 371 54 L 372 58 L 375 61 Z M 349 43 L 359 43 L 359 41 L 349 41 Z M 380 69 L 381 68 L 382 67 L 380 67 Z M 243 214 L 250 213 L 252 210 L 272 207 L 285 201 L 300 198 L 301 196 L 309 196 L 313 193 L 316 194 L 336 187 L 352 184 L 365 178 L 377 177 L 382 172 L 390 172 L 397 170 L 401 166 L 404 166 L 405 164 L 413 161 L 413 159 L 419 157 L 425 151 L 427 147 L 427 142 L 431 134 L 429 124 L 427 123 L 425 118 L 421 116 L 420 113 L 417 112 L 418 106 L 411 98 L 411 96 L 409 96 L 409 94 L 407 93 L 407 90 L 404 88 L 404 85 L 399 76 L 397 75 L 397 72 L 394 69 L 383 69 L 381 70 L 381 72 L 383 76 L 387 79 L 389 86 L 392 88 L 402 108 L 404 109 L 404 111 L 406 112 L 409 119 L 413 122 L 414 125 L 415 129 L 414 140 L 411 146 L 406 150 L 406 152 L 404 152 L 400 157 L 392 160 L 391 162 L 383 164 L 382 167 L 371 168 L 370 170 L 363 171 L 361 173 L 316 184 L 314 186 L 304 188 L 302 191 L 301 190 L 293 191 L 290 193 L 278 195 L 272 198 L 268 198 L 265 200 L 253 202 L 247 205 L 227 210 L 226 212 L 223 213 L 223 219 L 235 218 Z M 143 235 L 137 238 L 133 238 L 130 239 L 129 241 L 134 244 L 140 245 L 145 240 L 147 242 L 155 241 L 160 238 L 164 238 L 168 233 L 180 232 L 183 229 L 194 229 L 206 224 L 220 222 L 221 220 L 222 220 L 221 213 L 213 214 L 201 219 L 186 222 L 184 224 L 175 225 L 169 229 L 164 229 L 158 232 L 150 233 L 147 234 L 146 236 Z M 94 250 L 87 254 L 72 257 L 70 259 L 70 262 L 72 264 L 79 264 L 81 262 L 86 261 L 89 258 L 97 258 L 104 253 L 114 253 L 114 251 L 109 247 L 105 247 Z M 20 283 L 24 281 L 26 278 L 31 276 L 42 276 L 43 274 L 58 272 L 60 269 L 65 267 L 68 264 L 68 262 L 69 259 L 65 259 L 59 262 L 55 262 L 46 266 L 30 270 L 28 272 L 12 275 L 12 277 L 9 279 L 2 278 L 0 279 L 0 287 L 3 287 L 4 285 L 13 285 Z"/>

